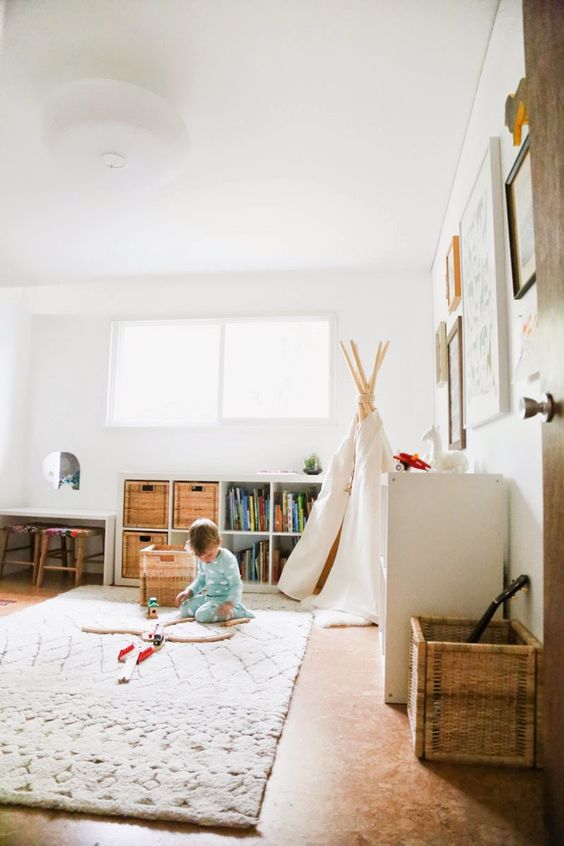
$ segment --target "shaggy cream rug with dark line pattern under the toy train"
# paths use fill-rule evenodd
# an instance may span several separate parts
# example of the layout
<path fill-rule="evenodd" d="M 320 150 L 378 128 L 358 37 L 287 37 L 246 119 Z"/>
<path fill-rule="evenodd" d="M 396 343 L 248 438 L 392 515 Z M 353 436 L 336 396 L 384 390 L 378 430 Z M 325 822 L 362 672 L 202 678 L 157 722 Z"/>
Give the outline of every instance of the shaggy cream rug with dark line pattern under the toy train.
<path fill-rule="evenodd" d="M 165 644 L 119 685 L 132 638 L 80 627 L 145 627 L 137 597 L 87 586 L 0 619 L 0 801 L 255 825 L 311 616 L 257 610 L 229 640 Z"/>

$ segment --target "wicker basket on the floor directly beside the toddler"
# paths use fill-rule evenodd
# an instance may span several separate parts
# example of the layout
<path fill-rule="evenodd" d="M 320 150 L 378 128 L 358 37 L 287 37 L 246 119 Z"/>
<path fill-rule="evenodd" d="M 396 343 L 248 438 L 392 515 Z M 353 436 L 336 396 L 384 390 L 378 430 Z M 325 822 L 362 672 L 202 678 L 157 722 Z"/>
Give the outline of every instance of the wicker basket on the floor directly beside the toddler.
<path fill-rule="evenodd" d="M 196 576 L 196 557 L 182 546 L 148 546 L 141 550 L 141 595 L 145 605 L 156 596 L 159 605 L 174 605 L 178 593 Z"/>

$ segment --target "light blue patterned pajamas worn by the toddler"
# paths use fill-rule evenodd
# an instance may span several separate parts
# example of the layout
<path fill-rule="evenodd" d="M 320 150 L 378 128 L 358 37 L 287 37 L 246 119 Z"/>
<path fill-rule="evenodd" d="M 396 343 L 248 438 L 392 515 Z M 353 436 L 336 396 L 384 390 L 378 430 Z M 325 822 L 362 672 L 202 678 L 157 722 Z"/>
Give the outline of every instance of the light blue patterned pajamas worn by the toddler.
<path fill-rule="evenodd" d="M 255 615 L 242 604 L 243 582 L 237 559 L 228 549 L 221 548 L 215 561 L 204 564 L 198 560 L 198 575 L 188 585 L 193 596 L 180 606 L 181 617 L 195 617 L 198 623 L 223 623 Z M 227 614 L 218 614 L 224 602 L 232 602 Z"/>

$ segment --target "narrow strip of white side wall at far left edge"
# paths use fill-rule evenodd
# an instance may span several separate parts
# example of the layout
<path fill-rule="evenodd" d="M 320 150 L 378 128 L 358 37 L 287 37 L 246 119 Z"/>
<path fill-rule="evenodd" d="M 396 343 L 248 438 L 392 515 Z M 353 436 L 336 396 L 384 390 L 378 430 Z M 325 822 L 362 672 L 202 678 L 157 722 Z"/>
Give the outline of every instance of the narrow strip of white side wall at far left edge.
<path fill-rule="evenodd" d="M 0 289 L 0 505 L 24 496 L 30 313 L 24 290 Z"/>

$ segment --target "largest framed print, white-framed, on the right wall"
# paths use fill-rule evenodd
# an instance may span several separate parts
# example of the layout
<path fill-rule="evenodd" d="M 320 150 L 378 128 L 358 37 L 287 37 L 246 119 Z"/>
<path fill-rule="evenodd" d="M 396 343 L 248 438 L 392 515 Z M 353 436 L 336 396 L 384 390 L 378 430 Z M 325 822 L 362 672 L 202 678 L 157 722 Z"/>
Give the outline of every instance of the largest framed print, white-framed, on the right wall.
<path fill-rule="evenodd" d="M 460 221 L 466 426 L 509 411 L 505 255 L 499 139 L 486 155 Z"/>

